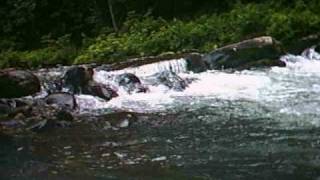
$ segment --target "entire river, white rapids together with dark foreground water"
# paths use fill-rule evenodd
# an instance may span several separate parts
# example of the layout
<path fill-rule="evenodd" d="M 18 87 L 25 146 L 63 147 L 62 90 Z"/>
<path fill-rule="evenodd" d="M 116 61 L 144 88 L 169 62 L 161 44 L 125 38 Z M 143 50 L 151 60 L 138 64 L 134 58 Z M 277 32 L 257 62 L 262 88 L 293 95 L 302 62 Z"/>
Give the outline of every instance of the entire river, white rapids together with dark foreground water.
<path fill-rule="evenodd" d="M 320 54 L 311 49 L 282 60 L 286 67 L 232 72 L 192 73 L 184 59 L 96 69 L 97 82 L 130 72 L 149 92 L 119 89 L 109 102 L 79 95 L 82 120 L 75 126 L 1 137 L 7 145 L 0 149 L 0 173 L 12 179 L 320 179 Z M 192 83 L 182 92 L 152 85 L 163 70 Z"/>

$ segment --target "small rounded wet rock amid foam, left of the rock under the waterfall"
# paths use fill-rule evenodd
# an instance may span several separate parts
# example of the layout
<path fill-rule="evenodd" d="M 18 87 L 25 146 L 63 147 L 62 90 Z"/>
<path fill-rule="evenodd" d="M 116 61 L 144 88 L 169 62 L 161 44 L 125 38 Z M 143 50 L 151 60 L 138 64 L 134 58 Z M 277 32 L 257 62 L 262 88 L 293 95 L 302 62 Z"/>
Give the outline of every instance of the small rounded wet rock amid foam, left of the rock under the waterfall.
<path fill-rule="evenodd" d="M 125 89 L 128 93 L 147 92 L 147 88 L 141 84 L 140 79 L 131 73 L 124 73 L 116 77 L 119 86 Z"/>

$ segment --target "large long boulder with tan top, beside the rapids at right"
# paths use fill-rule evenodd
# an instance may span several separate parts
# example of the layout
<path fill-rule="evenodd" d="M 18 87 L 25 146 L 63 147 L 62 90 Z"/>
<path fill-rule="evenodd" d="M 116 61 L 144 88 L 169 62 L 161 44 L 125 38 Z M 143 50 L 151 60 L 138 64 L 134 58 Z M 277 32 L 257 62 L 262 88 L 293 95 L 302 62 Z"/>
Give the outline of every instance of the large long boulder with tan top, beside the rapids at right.
<path fill-rule="evenodd" d="M 203 60 L 209 69 L 250 69 L 256 67 L 285 66 L 280 61 L 284 52 L 280 43 L 263 36 L 219 48 Z"/>

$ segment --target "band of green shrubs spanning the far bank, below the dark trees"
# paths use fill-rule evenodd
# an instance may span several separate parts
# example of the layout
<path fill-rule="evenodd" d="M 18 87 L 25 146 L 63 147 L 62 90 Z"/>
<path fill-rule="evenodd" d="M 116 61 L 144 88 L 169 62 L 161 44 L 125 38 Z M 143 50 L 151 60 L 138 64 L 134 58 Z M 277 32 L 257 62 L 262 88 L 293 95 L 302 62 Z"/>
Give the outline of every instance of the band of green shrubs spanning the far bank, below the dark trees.
<path fill-rule="evenodd" d="M 284 44 L 320 30 L 319 3 L 297 0 L 234 4 L 228 12 L 204 14 L 192 19 L 166 20 L 149 15 L 129 15 L 118 33 L 106 28 L 94 39 L 83 38 L 82 47 L 71 36 L 43 38 L 44 48 L 3 51 L 0 66 L 44 66 L 72 63 L 113 63 L 129 57 L 197 49 L 209 52 L 228 43 L 270 35 Z M 2 46 L 12 46 L 2 41 Z M 10 44 L 11 43 L 11 44 Z"/>

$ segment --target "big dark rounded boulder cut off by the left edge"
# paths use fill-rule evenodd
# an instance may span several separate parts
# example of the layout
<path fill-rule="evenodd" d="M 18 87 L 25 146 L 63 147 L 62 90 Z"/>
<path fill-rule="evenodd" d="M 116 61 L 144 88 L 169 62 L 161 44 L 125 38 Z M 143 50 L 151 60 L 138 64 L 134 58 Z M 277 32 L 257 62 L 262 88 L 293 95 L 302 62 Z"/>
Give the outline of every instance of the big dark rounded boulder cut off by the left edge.
<path fill-rule="evenodd" d="M 0 70 L 0 98 L 20 98 L 41 89 L 39 79 L 29 71 Z"/>

